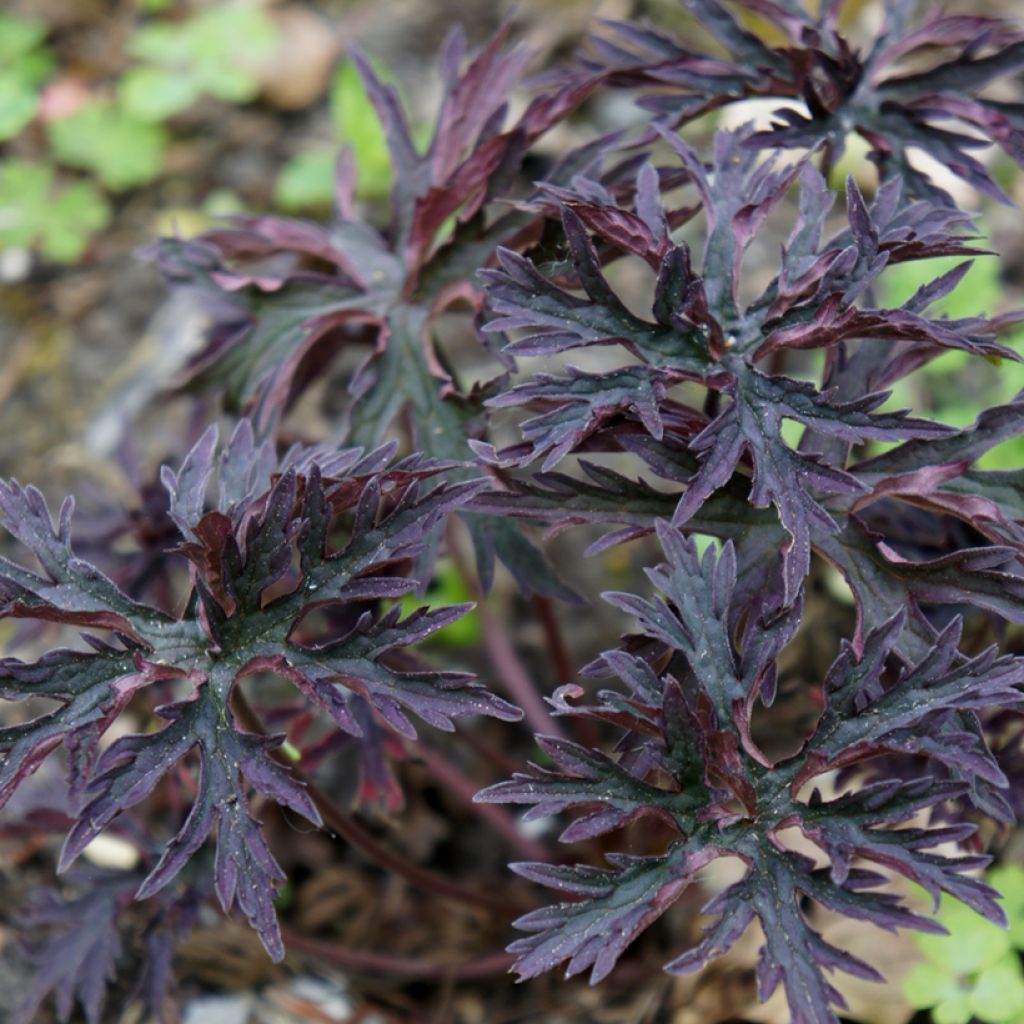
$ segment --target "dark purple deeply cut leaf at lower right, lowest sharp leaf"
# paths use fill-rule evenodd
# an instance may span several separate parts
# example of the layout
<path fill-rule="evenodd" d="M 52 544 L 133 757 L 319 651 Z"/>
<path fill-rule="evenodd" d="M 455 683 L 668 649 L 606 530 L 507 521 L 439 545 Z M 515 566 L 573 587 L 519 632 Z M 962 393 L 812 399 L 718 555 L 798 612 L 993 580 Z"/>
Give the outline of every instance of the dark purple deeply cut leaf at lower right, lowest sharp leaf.
<path fill-rule="evenodd" d="M 609 599 L 634 615 L 641 636 L 675 653 L 671 665 L 683 674 L 678 680 L 667 670 L 658 674 L 626 650 L 606 653 L 588 672 L 618 676 L 626 694 L 604 690 L 594 705 L 575 706 L 568 697 L 579 688 L 566 688 L 555 707 L 624 730 L 617 758 L 544 740 L 551 767 L 532 766 L 477 799 L 528 804 L 538 814 L 583 809 L 586 816 L 579 827 L 566 829 L 564 840 L 606 833 L 644 814 L 672 823 L 678 838 L 663 854 L 611 855 L 608 868 L 516 865 L 527 878 L 572 897 L 518 922 L 531 935 L 511 947 L 520 954 L 516 970 L 531 977 L 567 961 L 567 973 L 590 969 L 592 981 L 599 980 L 697 880 L 700 868 L 719 857 L 737 857 L 746 867 L 742 880 L 712 900 L 706 911 L 714 916 L 700 942 L 666 969 L 686 973 L 702 967 L 757 919 L 764 932 L 761 997 L 781 983 L 797 1024 L 835 1021 L 831 1008 L 844 1004 L 826 972 L 872 980 L 881 975 L 822 939 L 805 897 L 882 928 L 939 931 L 900 896 L 879 891 L 886 876 L 862 866 L 873 862 L 936 897 L 949 893 L 990 920 L 1002 920 L 994 891 L 968 873 L 987 858 L 933 852 L 963 841 L 974 826 L 923 828 L 908 822 L 922 810 L 962 798 L 979 777 L 1005 784 L 977 737 L 955 732 L 944 733 L 942 742 L 927 737 L 940 723 L 955 725 L 957 715 L 1019 706 L 1024 659 L 998 657 L 994 650 L 966 657 L 957 650 L 954 622 L 924 658 L 893 673 L 890 655 L 902 632 L 897 614 L 871 632 L 860 651 L 844 645 L 824 681 L 817 727 L 798 754 L 773 764 L 753 746 L 748 724 L 797 615 L 780 623 L 779 596 L 766 598 L 758 622 L 749 624 L 737 645 L 730 627 L 731 545 L 720 555 L 709 548 L 700 559 L 694 545 L 666 522 L 659 521 L 657 530 L 667 562 L 650 575 L 662 596 Z M 880 755 L 908 751 L 926 763 L 954 764 L 963 781 L 922 774 L 827 799 L 817 790 L 809 799 L 803 796 L 807 783 L 836 768 L 870 765 Z M 828 865 L 815 867 L 793 851 L 787 828 L 799 828 L 818 846 Z"/>

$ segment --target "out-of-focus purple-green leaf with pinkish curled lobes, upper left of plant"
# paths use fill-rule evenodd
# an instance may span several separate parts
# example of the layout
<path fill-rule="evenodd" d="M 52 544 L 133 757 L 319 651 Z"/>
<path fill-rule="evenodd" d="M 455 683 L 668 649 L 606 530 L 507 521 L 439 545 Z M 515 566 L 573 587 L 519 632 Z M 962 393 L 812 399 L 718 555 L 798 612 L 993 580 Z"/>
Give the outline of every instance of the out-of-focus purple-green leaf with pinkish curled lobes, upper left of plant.
<path fill-rule="evenodd" d="M 467 59 L 461 33 L 450 35 L 441 55 L 444 95 L 424 152 L 397 91 L 355 55 L 394 170 L 384 227 L 361 219 L 346 153 L 330 226 L 243 217 L 194 242 L 156 247 L 172 282 L 206 295 L 214 325 L 182 383 L 222 391 L 266 433 L 340 348 L 355 345 L 366 355 L 341 411 L 339 435 L 347 443 L 372 447 L 407 433 L 414 450 L 432 458 L 470 458 L 467 438 L 481 432 L 483 393 L 435 350 L 435 322 L 456 303 L 475 310 L 477 268 L 498 245 L 537 233 L 536 213 L 505 206 L 490 216 L 485 207 L 508 190 L 529 145 L 592 91 L 569 86 L 538 96 L 506 125 L 509 90 L 528 58 L 506 49 L 506 36 L 502 30 Z M 565 173 L 573 166 L 568 159 Z M 516 524 L 467 524 L 484 583 L 497 554 L 524 589 L 575 599 Z"/>

